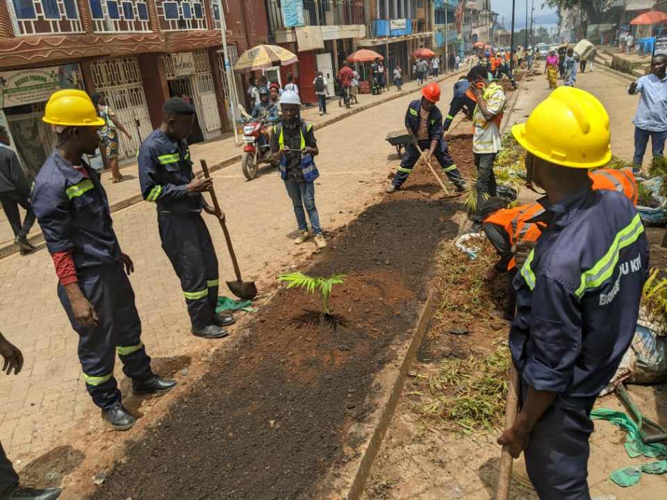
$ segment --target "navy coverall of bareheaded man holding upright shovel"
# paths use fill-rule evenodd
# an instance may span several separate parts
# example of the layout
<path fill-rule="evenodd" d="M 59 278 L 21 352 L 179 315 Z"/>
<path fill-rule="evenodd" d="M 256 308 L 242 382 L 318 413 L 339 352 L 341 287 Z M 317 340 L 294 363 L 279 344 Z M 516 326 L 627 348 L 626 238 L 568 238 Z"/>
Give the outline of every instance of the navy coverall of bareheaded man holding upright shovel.
<path fill-rule="evenodd" d="M 188 192 L 192 161 L 186 140 L 176 142 L 159 128 L 139 148 L 139 181 L 146 201 L 158 210 L 162 248 L 181 280 L 192 328 L 213 324 L 218 269 L 201 193 Z"/>

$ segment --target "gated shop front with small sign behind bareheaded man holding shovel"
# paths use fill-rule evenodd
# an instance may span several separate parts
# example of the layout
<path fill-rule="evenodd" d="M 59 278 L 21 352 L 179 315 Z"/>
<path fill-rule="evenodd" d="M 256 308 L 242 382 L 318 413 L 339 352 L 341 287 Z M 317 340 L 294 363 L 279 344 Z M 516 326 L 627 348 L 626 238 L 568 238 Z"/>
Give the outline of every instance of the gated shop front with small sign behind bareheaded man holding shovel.
<path fill-rule="evenodd" d="M 195 106 L 197 117 L 188 143 L 220 136 L 220 110 L 217 106 L 211 62 L 206 51 L 182 52 L 163 56 L 170 97 L 182 97 Z"/>

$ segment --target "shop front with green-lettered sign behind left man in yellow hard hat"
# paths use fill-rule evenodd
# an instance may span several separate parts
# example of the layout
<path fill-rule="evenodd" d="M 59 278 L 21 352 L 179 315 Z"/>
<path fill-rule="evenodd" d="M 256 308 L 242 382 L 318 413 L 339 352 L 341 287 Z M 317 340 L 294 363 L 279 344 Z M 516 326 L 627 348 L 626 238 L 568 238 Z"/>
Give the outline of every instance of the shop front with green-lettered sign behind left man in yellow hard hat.
<path fill-rule="evenodd" d="M 0 126 L 9 133 L 11 148 L 29 176 L 38 174 L 56 147 L 56 134 L 42 122 L 53 92 L 83 90 L 79 64 L 0 72 Z"/>

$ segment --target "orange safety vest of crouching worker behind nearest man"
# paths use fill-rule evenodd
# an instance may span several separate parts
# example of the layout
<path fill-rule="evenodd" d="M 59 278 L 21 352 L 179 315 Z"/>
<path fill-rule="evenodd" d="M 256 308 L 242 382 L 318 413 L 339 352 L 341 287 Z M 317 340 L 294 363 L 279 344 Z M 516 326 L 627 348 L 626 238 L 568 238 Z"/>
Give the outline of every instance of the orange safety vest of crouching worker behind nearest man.
<path fill-rule="evenodd" d="M 632 175 L 632 169 L 600 169 L 588 174 L 593 181 L 593 189 L 612 190 L 625 194 L 627 199 L 637 204 L 637 183 Z M 484 222 L 491 222 L 504 228 L 509 236 L 509 242 L 512 245 L 522 241 L 537 241 L 542 234 L 545 224 L 541 222 L 527 222 L 544 212 L 543 206 L 536 201 L 527 203 L 514 208 L 502 208 L 492 213 Z M 507 270 L 511 271 L 516 266 L 516 261 L 512 257 L 507 265 Z"/>

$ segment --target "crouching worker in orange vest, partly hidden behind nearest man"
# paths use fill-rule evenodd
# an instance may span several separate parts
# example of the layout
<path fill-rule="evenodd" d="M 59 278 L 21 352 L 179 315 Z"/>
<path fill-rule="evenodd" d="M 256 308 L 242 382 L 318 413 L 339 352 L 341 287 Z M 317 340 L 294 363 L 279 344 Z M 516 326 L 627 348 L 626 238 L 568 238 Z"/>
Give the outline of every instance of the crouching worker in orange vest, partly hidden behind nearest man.
<path fill-rule="evenodd" d="M 611 190 L 625 194 L 636 206 L 637 183 L 632 175 L 631 168 L 624 169 L 599 169 L 588 174 L 593 182 L 593 190 Z M 546 224 L 534 220 L 544 213 L 541 203 L 534 201 L 525 205 L 507 208 L 509 200 L 494 197 L 484 203 L 483 211 L 488 214 L 484 216 L 482 228 L 489 242 L 495 248 L 500 260 L 491 266 L 486 272 L 486 281 L 493 281 L 500 274 L 507 272 L 507 295 L 504 319 L 514 319 L 516 308 L 516 292 L 512 285 L 516 269 L 521 267 L 527 253 L 531 251 L 546 228 Z"/>

